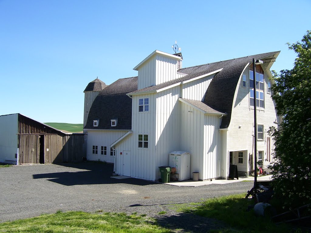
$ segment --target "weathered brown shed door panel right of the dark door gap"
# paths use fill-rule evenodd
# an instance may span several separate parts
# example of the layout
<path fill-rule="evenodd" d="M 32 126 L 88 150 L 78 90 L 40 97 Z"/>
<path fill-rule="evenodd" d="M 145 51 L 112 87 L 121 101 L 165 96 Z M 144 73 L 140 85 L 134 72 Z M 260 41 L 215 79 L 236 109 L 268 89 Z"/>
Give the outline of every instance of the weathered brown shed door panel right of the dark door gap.
<path fill-rule="evenodd" d="M 63 137 L 44 135 L 44 163 L 63 162 Z"/>

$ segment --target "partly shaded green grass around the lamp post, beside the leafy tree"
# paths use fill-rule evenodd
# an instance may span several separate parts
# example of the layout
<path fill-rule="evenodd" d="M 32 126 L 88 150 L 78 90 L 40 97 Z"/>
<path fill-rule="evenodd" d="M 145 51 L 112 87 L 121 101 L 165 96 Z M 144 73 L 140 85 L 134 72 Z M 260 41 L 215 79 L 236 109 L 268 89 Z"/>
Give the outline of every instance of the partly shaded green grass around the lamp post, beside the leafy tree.
<path fill-rule="evenodd" d="M 245 194 L 237 194 L 206 199 L 201 203 L 177 204 L 173 208 L 179 212 L 216 218 L 227 224 L 227 228 L 211 231 L 215 233 L 291 232 L 286 225 L 276 225 L 269 218 L 256 217 L 253 209 L 247 212 L 248 205 L 252 204 L 253 200 L 245 199 Z"/>

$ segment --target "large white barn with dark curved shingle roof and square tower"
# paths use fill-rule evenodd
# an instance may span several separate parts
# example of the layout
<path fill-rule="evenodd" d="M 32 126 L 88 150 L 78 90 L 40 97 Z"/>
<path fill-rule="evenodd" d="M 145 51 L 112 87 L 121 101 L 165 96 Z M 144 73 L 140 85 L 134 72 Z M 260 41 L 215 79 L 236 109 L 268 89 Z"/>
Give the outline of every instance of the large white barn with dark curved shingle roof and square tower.
<path fill-rule="evenodd" d="M 113 162 L 119 175 L 160 178 L 169 153 L 190 153 L 190 177 L 228 178 L 253 168 L 253 71 L 256 66 L 258 159 L 272 162 L 267 131 L 278 117 L 270 87 L 270 67 L 280 51 L 182 68 L 181 53 L 154 51 L 134 70 L 137 77 L 105 86 L 92 103 L 84 130 L 89 160 Z M 94 101 L 93 101 L 94 100 Z M 86 111 L 86 108 L 85 108 Z"/>

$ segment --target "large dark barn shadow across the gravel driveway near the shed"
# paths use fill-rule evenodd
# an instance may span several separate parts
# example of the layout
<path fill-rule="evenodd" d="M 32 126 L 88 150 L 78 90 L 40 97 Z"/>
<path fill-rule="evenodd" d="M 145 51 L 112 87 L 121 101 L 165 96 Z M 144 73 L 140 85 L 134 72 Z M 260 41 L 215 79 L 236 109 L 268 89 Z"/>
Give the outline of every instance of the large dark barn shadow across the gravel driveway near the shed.
<path fill-rule="evenodd" d="M 135 178 L 114 179 L 110 178 L 113 173 L 113 164 L 100 162 L 62 163 L 64 167 L 73 167 L 87 171 L 76 172 L 53 172 L 34 174 L 33 179 L 47 179 L 61 185 L 95 185 L 95 184 L 131 184 L 131 185 L 156 185 L 156 182 L 140 180 Z"/>

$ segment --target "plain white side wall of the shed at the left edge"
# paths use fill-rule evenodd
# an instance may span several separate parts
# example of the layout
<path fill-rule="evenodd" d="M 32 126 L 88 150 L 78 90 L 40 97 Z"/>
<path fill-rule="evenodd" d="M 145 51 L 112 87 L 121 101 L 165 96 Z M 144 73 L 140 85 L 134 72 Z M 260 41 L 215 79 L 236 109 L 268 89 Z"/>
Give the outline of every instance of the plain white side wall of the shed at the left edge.
<path fill-rule="evenodd" d="M 0 116 L 0 162 L 17 161 L 18 113 Z"/>

